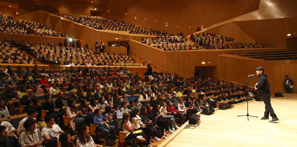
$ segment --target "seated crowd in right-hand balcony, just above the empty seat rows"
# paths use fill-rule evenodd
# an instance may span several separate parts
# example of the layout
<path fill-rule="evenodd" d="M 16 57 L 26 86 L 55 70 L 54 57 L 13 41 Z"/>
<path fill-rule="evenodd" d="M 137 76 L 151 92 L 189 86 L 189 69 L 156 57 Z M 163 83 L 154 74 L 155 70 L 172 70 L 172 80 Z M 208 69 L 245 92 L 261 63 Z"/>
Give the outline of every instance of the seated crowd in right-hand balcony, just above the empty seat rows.
<path fill-rule="evenodd" d="M 236 40 L 232 37 L 223 37 L 223 35 L 219 34 L 208 34 L 208 32 L 205 34 L 202 32 L 202 34 L 191 34 L 190 39 L 198 44 L 199 46 L 202 46 L 206 49 L 248 49 L 248 48 L 264 48 L 264 45 L 258 45 L 258 43 L 233 43 Z M 230 43 L 231 42 L 231 43 Z"/>

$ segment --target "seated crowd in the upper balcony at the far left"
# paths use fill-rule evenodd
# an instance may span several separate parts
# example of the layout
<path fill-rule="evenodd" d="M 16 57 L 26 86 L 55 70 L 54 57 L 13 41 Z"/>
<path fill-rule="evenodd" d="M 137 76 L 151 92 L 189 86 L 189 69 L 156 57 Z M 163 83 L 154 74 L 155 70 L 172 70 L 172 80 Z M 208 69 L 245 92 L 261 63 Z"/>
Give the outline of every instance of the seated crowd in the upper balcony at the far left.
<path fill-rule="evenodd" d="M 12 34 L 27 34 L 66 38 L 66 34 L 63 34 L 59 30 L 54 30 L 47 25 L 42 25 L 37 22 L 25 20 L 17 20 L 16 22 L 13 22 L 12 20 L 7 19 L 2 14 L 0 15 L 0 31 Z"/>

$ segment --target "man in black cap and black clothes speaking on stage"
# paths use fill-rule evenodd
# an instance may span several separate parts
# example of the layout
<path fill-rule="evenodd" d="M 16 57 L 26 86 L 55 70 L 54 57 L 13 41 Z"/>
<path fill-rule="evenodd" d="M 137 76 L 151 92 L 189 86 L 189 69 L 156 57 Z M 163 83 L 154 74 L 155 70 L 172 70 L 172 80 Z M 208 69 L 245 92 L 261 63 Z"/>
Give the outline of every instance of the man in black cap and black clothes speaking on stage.
<path fill-rule="evenodd" d="M 256 83 L 256 85 L 255 85 L 255 90 L 257 89 L 259 91 L 259 94 L 262 97 L 263 102 L 265 104 L 264 116 L 261 119 L 262 120 L 269 119 L 269 113 L 270 113 L 272 120 L 270 120 L 269 122 L 278 122 L 279 119 L 277 118 L 276 114 L 274 113 L 273 108 L 270 103 L 271 92 L 270 92 L 270 87 L 269 87 L 269 83 L 267 80 L 267 75 L 264 74 L 264 68 L 258 67 L 258 68 L 255 68 L 255 70 L 256 70 L 256 74 L 259 76 L 258 83 Z"/>

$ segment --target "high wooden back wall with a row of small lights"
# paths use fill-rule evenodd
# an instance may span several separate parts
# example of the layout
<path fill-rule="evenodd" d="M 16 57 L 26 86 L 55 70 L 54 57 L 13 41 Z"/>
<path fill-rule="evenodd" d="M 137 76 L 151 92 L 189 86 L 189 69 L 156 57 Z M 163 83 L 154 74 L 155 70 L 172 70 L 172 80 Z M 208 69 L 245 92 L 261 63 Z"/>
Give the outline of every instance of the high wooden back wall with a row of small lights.
<path fill-rule="evenodd" d="M 110 1 L 102 16 L 118 19 L 135 25 L 152 28 L 154 30 L 167 31 L 171 34 L 183 32 L 184 35 L 195 32 L 198 26 L 205 27 L 236 17 L 254 0 L 154 0 L 138 1 L 123 0 L 121 2 Z M 259 5 L 258 5 L 259 6 Z M 110 10 L 110 12 L 107 12 Z M 128 13 L 128 15 L 125 15 Z M 137 15 L 137 19 L 134 16 Z M 148 19 L 144 19 L 147 17 Z M 158 22 L 154 20 L 157 19 Z M 168 26 L 165 23 L 168 22 Z M 177 28 L 176 26 L 180 27 Z M 188 28 L 191 26 L 192 28 Z"/>

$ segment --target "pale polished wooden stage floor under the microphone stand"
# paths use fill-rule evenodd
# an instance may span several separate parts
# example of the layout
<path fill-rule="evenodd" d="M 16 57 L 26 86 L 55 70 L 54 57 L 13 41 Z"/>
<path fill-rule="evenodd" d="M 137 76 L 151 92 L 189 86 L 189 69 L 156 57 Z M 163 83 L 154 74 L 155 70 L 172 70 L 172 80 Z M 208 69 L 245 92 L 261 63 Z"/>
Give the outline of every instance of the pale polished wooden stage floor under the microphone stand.
<path fill-rule="evenodd" d="M 236 105 L 233 109 L 217 110 L 212 115 L 201 115 L 200 126 L 183 129 L 166 146 L 297 146 L 297 94 L 286 94 L 285 97 L 271 98 L 271 105 L 278 123 L 260 120 L 264 115 L 263 101 L 249 103 L 249 114 L 246 116 L 247 104 Z"/>

